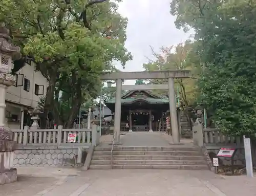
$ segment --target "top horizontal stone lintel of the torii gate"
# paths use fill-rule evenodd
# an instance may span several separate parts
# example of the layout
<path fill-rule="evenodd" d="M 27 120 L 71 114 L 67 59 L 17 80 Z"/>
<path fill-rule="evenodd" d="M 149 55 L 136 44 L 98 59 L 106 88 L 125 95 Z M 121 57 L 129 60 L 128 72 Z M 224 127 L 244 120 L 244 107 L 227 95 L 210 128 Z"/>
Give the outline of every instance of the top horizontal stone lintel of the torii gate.
<path fill-rule="evenodd" d="M 102 73 L 101 80 L 133 80 L 133 79 L 164 79 L 164 78 L 189 78 L 191 72 L 189 70 L 163 70 L 152 72 L 112 72 Z"/>

